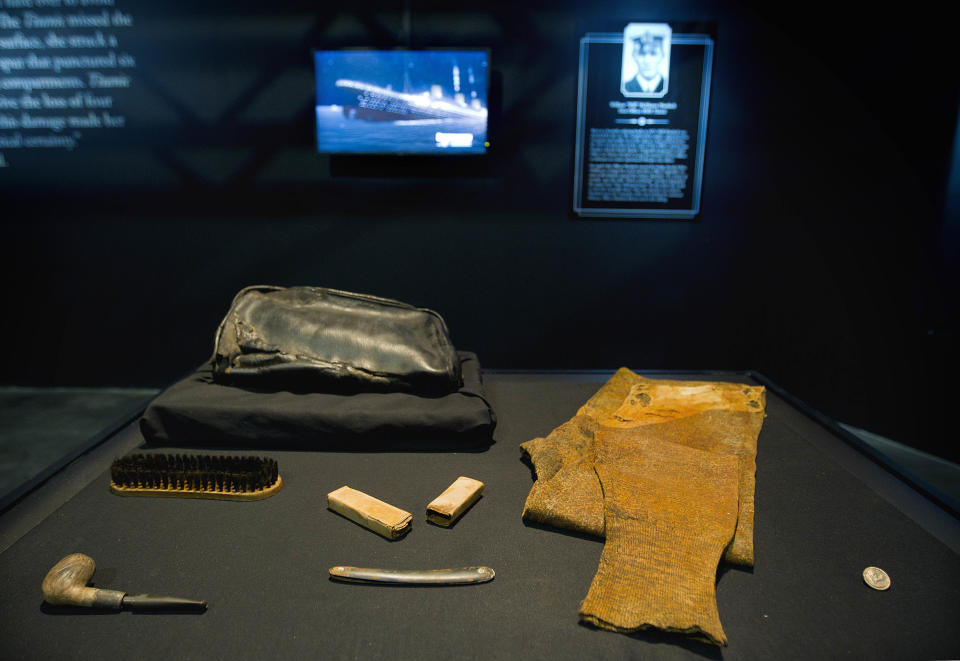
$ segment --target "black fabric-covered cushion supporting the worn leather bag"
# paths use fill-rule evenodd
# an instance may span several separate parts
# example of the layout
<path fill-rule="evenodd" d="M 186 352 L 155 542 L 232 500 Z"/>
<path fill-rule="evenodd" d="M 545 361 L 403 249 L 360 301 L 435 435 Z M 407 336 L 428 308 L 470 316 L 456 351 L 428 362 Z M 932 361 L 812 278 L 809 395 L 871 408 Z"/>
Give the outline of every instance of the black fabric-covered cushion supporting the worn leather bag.
<path fill-rule="evenodd" d="M 205 364 L 153 400 L 149 443 L 292 449 L 425 449 L 490 444 L 496 425 L 477 356 L 457 352 L 463 385 L 436 397 L 270 391 L 215 383 Z"/>

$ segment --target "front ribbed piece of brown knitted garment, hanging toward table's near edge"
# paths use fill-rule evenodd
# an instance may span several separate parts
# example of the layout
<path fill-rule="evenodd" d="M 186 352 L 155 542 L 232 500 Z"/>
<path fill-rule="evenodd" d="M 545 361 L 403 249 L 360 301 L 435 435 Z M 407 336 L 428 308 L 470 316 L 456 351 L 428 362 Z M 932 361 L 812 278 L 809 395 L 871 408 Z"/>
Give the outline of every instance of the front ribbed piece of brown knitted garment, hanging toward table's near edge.
<path fill-rule="evenodd" d="M 714 584 L 737 522 L 737 459 L 635 432 L 594 435 L 606 542 L 580 618 L 726 645 Z"/>

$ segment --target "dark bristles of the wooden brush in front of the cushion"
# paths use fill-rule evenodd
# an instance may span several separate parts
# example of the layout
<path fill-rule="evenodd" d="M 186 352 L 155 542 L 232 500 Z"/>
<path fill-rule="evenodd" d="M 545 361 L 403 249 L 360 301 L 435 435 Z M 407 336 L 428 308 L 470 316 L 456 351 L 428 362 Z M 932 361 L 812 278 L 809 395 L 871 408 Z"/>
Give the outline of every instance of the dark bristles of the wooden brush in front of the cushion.
<path fill-rule="evenodd" d="M 276 460 L 266 457 L 134 454 L 110 466 L 121 489 L 251 493 L 272 487 L 278 476 Z"/>

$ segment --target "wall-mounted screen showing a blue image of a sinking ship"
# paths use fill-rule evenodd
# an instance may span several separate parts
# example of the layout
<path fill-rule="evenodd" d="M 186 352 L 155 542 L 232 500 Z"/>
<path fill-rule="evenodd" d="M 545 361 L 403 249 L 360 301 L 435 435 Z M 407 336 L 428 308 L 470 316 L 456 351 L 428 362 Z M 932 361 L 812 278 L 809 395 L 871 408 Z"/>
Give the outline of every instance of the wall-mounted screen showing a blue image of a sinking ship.
<path fill-rule="evenodd" d="M 320 152 L 486 152 L 486 51 L 315 51 L 314 65 Z"/>

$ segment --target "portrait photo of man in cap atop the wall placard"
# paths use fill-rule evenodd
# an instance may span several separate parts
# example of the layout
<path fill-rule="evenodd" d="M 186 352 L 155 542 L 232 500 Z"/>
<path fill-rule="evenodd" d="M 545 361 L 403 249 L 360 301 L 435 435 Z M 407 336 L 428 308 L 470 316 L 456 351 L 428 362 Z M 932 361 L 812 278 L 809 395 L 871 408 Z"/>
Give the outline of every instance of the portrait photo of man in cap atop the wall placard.
<path fill-rule="evenodd" d="M 670 81 L 670 26 L 630 23 L 623 31 L 620 91 L 630 97 L 662 97 Z"/>

